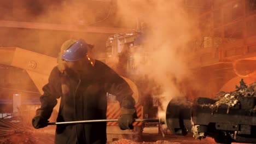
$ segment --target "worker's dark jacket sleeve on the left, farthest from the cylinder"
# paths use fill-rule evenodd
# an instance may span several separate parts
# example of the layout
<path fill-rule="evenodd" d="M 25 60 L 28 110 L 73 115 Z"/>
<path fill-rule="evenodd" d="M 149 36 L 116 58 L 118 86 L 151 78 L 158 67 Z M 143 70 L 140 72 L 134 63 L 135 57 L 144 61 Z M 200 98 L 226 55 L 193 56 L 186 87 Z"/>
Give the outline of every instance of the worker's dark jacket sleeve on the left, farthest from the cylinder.
<path fill-rule="evenodd" d="M 43 87 L 43 95 L 40 97 L 41 107 L 37 109 L 36 116 L 49 119 L 57 98 L 61 97 L 60 72 L 55 67 L 49 76 L 48 83 Z"/>

